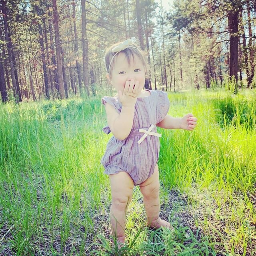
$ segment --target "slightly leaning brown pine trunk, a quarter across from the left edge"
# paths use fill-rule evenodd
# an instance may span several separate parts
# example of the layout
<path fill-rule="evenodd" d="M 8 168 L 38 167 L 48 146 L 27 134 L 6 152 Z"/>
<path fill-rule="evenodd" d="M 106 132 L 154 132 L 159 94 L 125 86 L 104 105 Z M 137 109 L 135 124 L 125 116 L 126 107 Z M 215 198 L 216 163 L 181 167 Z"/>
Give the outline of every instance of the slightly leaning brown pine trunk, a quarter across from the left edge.
<path fill-rule="evenodd" d="M 58 82 L 59 82 L 59 90 L 60 90 L 60 98 L 65 98 L 65 90 L 64 90 L 64 81 L 62 74 L 62 62 L 61 62 L 61 50 L 60 50 L 60 34 L 59 34 L 59 16 L 57 10 L 56 0 L 52 0 L 53 6 L 53 23 L 54 23 L 54 32 L 55 32 L 55 44 L 56 44 L 56 56 L 57 56 L 57 73 L 58 73 Z"/>

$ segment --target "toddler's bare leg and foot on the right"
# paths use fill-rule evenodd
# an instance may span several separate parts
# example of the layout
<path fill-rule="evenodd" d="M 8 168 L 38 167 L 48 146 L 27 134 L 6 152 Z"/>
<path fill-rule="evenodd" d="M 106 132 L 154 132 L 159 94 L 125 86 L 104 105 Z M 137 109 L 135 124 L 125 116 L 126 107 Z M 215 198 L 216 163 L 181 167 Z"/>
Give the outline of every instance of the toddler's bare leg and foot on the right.
<path fill-rule="evenodd" d="M 152 228 L 167 227 L 171 228 L 171 224 L 159 217 L 160 198 L 159 198 L 159 173 L 156 164 L 154 173 L 150 178 L 140 184 L 140 191 L 143 194 L 143 202 L 145 205 L 148 226 Z"/>

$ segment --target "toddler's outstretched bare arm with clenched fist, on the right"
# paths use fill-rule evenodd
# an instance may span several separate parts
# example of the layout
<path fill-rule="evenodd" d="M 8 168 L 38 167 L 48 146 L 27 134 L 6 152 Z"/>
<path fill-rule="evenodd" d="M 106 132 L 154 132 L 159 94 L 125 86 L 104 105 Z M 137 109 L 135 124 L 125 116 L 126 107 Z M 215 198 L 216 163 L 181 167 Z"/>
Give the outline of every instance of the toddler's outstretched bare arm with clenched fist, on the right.
<path fill-rule="evenodd" d="M 184 129 L 192 131 L 196 127 L 197 118 L 193 114 L 186 114 L 182 118 L 175 118 L 169 115 L 156 124 L 156 126 L 164 129 Z"/>

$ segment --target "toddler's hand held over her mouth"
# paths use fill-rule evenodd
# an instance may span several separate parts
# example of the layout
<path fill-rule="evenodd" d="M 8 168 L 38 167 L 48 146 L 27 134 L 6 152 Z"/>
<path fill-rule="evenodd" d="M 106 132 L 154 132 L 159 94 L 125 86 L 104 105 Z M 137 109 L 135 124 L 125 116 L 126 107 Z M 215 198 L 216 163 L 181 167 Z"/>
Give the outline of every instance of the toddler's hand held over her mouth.
<path fill-rule="evenodd" d="M 123 94 L 121 91 L 118 91 L 118 98 L 122 106 L 133 107 L 135 105 L 137 97 L 142 90 L 140 87 L 139 81 L 134 82 L 133 79 L 126 81 Z"/>

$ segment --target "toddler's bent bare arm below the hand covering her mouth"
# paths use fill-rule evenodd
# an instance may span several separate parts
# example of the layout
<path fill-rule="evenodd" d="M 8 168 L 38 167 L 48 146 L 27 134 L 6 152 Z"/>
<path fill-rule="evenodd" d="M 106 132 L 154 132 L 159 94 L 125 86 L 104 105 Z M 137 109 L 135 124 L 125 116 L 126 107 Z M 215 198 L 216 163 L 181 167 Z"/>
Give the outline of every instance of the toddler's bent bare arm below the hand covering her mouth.
<path fill-rule="evenodd" d="M 106 103 L 108 126 L 118 140 L 124 140 L 132 130 L 134 106 L 123 106 L 118 114 L 113 106 Z"/>

